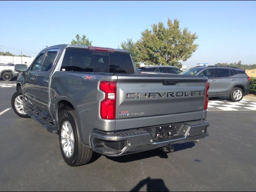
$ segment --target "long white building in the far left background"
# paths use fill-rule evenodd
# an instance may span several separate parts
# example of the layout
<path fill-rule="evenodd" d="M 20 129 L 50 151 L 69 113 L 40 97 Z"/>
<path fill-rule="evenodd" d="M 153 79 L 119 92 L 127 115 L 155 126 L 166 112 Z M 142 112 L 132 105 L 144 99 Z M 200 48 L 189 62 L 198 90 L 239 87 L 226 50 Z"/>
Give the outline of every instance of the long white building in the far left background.
<path fill-rule="evenodd" d="M 19 56 L 2 56 L 0 55 L 0 63 L 8 64 L 25 64 L 30 66 L 30 64 L 34 61 L 34 57 L 19 57 Z"/>

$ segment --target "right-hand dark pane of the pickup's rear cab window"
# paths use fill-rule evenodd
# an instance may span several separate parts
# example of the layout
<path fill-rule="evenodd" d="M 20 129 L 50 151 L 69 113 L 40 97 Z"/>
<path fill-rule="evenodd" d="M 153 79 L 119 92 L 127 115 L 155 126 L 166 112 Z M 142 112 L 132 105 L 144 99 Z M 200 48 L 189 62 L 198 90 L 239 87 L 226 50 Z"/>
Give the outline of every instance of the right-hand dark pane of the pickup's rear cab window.
<path fill-rule="evenodd" d="M 132 60 L 129 54 L 110 53 L 109 60 L 110 73 L 134 73 Z"/>

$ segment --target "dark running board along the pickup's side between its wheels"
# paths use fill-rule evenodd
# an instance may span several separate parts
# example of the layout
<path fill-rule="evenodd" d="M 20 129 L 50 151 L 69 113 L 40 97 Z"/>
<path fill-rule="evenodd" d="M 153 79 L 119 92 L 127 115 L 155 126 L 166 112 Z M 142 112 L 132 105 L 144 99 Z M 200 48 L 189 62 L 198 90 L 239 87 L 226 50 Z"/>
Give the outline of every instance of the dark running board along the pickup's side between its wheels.
<path fill-rule="evenodd" d="M 51 124 L 50 122 L 46 121 L 44 118 L 42 118 L 40 115 L 36 114 L 33 110 L 25 110 L 26 114 L 28 114 L 31 118 L 36 120 L 38 123 L 40 123 L 46 130 L 50 133 L 58 133 L 58 128 Z"/>

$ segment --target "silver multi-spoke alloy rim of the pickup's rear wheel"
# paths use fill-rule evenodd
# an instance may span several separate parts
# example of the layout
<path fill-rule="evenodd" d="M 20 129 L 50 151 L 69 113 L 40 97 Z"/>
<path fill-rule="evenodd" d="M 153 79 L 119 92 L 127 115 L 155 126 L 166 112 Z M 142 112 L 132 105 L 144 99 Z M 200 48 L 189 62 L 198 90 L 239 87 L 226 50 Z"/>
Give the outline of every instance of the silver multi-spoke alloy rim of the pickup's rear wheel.
<path fill-rule="evenodd" d="M 67 158 L 74 153 L 74 133 L 70 122 L 64 121 L 61 127 L 61 144 Z"/>

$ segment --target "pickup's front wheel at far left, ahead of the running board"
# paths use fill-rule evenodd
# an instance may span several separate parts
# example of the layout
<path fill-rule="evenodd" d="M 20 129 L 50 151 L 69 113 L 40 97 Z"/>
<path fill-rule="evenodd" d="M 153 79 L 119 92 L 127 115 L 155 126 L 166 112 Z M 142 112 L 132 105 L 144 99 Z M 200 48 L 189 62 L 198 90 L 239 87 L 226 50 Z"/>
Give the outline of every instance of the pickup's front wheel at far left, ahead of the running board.
<path fill-rule="evenodd" d="M 23 118 L 30 118 L 30 116 L 24 112 L 23 96 L 21 90 L 16 91 L 12 96 L 12 109 L 18 116 Z"/>

